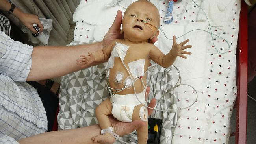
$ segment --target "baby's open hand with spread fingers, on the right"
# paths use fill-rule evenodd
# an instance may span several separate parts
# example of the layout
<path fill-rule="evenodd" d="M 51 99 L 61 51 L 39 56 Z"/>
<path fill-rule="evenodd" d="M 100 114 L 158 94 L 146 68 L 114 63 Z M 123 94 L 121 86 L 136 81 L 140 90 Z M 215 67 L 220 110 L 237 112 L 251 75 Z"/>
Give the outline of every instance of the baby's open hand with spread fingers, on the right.
<path fill-rule="evenodd" d="M 184 44 L 186 44 L 188 41 L 189 41 L 189 39 L 187 39 L 186 41 L 181 42 L 180 44 L 177 44 L 176 36 L 174 35 L 173 36 L 173 46 L 172 46 L 172 49 L 171 49 L 171 54 L 174 57 L 179 56 L 179 57 L 182 57 L 182 58 L 186 59 L 187 57 L 183 54 L 190 55 L 191 52 L 184 51 L 184 49 L 192 47 L 191 45 L 184 46 Z"/>

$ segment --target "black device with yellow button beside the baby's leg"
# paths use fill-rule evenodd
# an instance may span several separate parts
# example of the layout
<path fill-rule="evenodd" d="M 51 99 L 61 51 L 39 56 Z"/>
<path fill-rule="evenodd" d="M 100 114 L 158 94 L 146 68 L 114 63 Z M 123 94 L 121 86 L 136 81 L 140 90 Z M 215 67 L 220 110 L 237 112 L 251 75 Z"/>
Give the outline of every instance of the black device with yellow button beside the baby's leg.
<path fill-rule="evenodd" d="M 159 144 L 162 129 L 162 120 L 148 118 L 148 142 L 147 144 Z"/>

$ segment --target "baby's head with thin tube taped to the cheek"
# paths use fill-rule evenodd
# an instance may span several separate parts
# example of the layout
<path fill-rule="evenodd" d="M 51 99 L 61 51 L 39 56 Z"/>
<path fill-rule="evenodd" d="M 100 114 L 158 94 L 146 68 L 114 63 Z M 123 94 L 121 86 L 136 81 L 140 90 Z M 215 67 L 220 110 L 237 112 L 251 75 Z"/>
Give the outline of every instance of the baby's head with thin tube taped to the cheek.
<path fill-rule="evenodd" d="M 147 0 L 138 0 L 124 12 L 122 31 L 124 38 L 132 42 L 144 42 L 158 36 L 158 28 L 154 26 L 159 25 L 160 15 L 156 6 Z"/>

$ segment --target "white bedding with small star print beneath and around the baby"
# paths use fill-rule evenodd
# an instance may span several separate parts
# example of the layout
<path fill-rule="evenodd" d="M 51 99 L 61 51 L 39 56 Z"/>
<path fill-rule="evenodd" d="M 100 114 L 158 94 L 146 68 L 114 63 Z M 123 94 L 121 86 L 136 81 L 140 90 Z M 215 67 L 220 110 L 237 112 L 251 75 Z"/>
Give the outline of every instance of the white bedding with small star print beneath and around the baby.
<path fill-rule="evenodd" d="M 161 22 L 162 28 L 167 37 L 172 38 L 173 34 L 180 36 L 192 29 L 207 29 L 207 22 L 203 20 L 202 11 L 191 0 L 178 0 L 174 2 L 173 22 L 169 25 Z M 119 5 L 106 8 L 103 5 L 111 0 L 81 1 L 74 21 L 76 30 L 72 44 L 83 44 L 101 41 L 104 34 L 111 26 L 116 11 L 125 9 Z M 195 0 L 200 6 L 201 0 Z M 207 3 L 206 3 L 207 2 Z M 203 6 L 216 6 L 217 1 L 203 1 Z M 165 15 L 168 2 L 159 0 L 161 21 Z M 223 7 L 222 7 L 223 8 Z M 182 83 L 193 85 L 198 92 L 197 102 L 188 109 L 178 111 L 178 122 L 173 130 L 172 144 L 227 144 L 230 135 L 229 118 L 236 99 L 236 44 L 239 28 L 239 13 L 241 4 L 239 0 L 230 1 L 225 5 L 229 13 L 217 21 L 221 23 L 221 29 L 211 27 L 213 33 L 223 37 L 230 44 L 226 54 L 219 54 L 211 41 L 211 35 L 203 31 L 193 31 L 178 39 L 182 42 L 190 39 L 189 44 L 192 55 L 188 59 L 177 59 L 175 65 L 181 71 Z M 92 11 L 96 11 L 94 15 Z M 221 9 L 223 11 L 223 9 Z M 200 17 L 198 18 L 198 13 Z M 217 11 L 216 11 L 217 13 Z M 197 18 L 200 22 L 197 22 Z M 212 20 L 214 21 L 214 19 Z M 213 37 L 215 38 L 215 37 Z M 156 46 L 164 53 L 167 53 L 172 41 L 165 39 L 160 33 Z M 215 46 L 221 52 L 227 50 L 227 44 L 223 39 L 215 38 Z M 222 50 L 220 50 L 222 49 Z M 172 71 L 174 83 L 177 79 L 175 70 Z M 62 81 L 67 83 L 67 81 Z M 64 90 L 65 91 L 65 90 Z M 178 107 L 186 107 L 195 101 L 194 90 L 187 86 L 181 86 L 176 91 Z M 65 105 L 66 106 L 66 105 Z M 64 106 L 61 106 L 64 107 Z M 65 124 L 64 124 L 65 125 Z"/>

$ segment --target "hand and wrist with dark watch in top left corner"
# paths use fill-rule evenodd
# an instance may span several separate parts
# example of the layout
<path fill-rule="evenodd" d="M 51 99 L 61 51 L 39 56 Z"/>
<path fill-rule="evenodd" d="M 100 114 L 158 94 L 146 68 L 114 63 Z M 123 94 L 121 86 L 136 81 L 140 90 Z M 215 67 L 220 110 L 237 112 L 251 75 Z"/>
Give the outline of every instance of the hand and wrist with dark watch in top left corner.
<path fill-rule="evenodd" d="M 3 11 L 9 11 L 11 8 L 11 4 L 7 0 L 0 0 L 0 9 Z M 17 17 L 30 31 L 33 33 L 37 33 L 37 31 L 33 28 L 33 24 L 37 24 L 40 28 L 40 32 L 43 31 L 44 27 L 39 21 L 37 15 L 33 15 L 30 13 L 22 12 L 18 7 L 14 8 L 12 13 L 15 17 Z"/>

